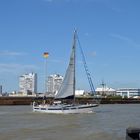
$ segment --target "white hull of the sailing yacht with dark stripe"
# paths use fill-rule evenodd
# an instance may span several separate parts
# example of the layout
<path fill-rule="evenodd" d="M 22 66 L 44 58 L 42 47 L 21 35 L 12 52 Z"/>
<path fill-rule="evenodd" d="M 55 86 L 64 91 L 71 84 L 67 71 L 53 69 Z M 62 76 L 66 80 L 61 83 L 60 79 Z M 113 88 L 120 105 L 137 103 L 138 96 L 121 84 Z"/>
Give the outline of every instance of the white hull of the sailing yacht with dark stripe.
<path fill-rule="evenodd" d="M 34 112 L 51 113 L 51 114 L 76 114 L 76 113 L 92 113 L 93 108 L 97 104 L 86 105 L 33 105 Z"/>

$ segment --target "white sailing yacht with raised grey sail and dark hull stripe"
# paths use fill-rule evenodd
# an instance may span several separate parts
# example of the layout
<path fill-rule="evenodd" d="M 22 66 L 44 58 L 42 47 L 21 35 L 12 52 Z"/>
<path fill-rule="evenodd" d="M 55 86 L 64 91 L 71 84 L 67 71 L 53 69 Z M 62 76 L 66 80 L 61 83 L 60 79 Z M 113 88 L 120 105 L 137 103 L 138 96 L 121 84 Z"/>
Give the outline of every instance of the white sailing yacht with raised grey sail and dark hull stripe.
<path fill-rule="evenodd" d="M 34 112 L 69 114 L 69 113 L 91 113 L 93 108 L 98 104 L 76 104 L 75 103 L 75 52 L 76 52 L 77 32 L 74 31 L 73 46 L 70 56 L 69 65 L 62 82 L 62 85 L 55 96 L 55 99 L 73 99 L 72 104 L 64 104 L 61 101 L 54 101 L 53 104 L 36 104 L 33 103 Z"/>

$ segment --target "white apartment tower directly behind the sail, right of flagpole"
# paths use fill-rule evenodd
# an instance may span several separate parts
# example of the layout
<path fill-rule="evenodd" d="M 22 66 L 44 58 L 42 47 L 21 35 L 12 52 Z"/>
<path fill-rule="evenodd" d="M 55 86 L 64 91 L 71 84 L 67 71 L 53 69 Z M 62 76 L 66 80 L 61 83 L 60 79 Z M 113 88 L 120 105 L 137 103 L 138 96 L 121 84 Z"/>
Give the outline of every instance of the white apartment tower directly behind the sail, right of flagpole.
<path fill-rule="evenodd" d="M 48 93 L 56 94 L 62 84 L 62 81 L 63 81 L 63 76 L 59 74 L 48 76 L 48 81 L 47 81 Z"/>

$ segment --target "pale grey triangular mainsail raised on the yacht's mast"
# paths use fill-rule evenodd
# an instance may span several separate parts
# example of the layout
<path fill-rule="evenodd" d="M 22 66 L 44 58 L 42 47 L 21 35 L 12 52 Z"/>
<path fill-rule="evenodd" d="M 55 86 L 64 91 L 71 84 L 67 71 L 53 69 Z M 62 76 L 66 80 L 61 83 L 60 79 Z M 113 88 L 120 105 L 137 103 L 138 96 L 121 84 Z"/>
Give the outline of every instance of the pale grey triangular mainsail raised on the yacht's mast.
<path fill-rule="evenodd" d="M 76 31 L 74 32 L 74 42 L 70 56 L 69 66 L 67 68 L 62 85 L 55 98 L 71 98 L 75 96 L 75 49 Z"/>

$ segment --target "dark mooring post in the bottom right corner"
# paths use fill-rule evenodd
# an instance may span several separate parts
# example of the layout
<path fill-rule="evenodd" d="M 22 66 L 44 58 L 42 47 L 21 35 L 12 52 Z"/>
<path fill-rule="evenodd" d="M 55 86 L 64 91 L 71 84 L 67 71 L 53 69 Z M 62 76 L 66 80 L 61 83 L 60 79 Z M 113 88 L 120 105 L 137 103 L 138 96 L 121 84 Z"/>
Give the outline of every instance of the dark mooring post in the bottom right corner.
<path fill-rule="evenodd" d="M 134 128 L 134 127 L 127 128 L 126 140 L 140 140 L 140 128 Z"/>

